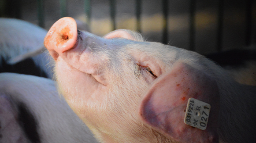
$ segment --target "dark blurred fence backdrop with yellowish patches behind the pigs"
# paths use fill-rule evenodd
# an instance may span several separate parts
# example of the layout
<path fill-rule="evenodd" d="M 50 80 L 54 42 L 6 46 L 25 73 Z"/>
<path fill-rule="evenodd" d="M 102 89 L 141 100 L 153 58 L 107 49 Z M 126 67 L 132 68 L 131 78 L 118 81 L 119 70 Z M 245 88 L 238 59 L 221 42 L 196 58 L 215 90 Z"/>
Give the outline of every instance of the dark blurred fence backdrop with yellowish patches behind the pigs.
<path fill-rule="evenodd" d="M 0 0 L 0 17 L 46 30 L 65 16 L 99 36 L 131 29 L 200 54 L 256 45 L 256 0 Z"/>

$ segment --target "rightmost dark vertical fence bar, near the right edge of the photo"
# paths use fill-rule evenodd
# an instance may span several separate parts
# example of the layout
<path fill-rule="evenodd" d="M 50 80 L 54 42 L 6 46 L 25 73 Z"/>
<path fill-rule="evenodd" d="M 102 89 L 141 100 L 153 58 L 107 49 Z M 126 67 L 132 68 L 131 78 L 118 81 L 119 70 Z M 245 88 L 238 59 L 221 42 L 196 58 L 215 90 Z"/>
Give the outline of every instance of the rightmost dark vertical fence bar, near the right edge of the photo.
<path fill-rule="evenodd" d="M 246 6 L 246 36 L 245 44 L 249 46 L 252 42 L 252 0 L 247 0 Z"/>

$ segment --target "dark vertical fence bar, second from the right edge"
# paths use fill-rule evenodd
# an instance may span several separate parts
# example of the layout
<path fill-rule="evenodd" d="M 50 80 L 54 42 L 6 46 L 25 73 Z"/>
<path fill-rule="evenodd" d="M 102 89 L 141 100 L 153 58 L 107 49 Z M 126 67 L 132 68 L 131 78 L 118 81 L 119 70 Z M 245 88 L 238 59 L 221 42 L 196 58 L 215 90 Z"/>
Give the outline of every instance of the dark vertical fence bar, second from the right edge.
<path fill-rule="evenodd" d="M 224 0 L 219 0 L 218 10 L 218 31 L 217 31 L 217 51 L 223 49 L 223 13 L 224 13 Z"/>

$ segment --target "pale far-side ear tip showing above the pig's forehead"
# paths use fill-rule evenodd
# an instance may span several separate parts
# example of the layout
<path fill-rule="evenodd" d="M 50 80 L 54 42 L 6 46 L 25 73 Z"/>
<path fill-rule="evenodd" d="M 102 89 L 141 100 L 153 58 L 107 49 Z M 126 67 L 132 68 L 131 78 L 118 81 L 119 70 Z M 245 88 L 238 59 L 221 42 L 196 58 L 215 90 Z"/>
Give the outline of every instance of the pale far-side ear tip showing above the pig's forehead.
<path fill-rule="evenodd" d="M 126 29 L 118 29 L 115 31 L 112 31 L 104 36 L 106 39 L 112 39 L 112 38 L 124 38 L 124 39 L 130 39 L 134 41 L 143 41 L 143 37 L 141 34 L 137 32 L 133 32 Z"/>

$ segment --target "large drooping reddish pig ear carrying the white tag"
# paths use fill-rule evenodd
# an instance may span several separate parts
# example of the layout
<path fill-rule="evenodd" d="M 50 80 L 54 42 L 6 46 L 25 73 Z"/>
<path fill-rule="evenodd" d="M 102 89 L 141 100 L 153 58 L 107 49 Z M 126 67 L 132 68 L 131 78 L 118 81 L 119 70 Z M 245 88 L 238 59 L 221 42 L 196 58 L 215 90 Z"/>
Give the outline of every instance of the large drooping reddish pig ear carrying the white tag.
<path fill-rule="evenodd" d="M 184 123 L 190 97 L 211 105 L 205 130 Z M 182 62 L 174 64 L 171 71 L 156 79 L 139 107 L 139 116 L 143 123 L 182 143 L 218 143 L 218 112 L 219 89 L 215 80 Z M 199 124 L 201 118 L 198 120 Z"/>

